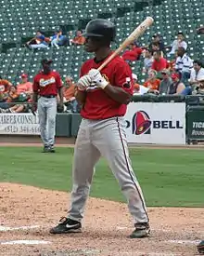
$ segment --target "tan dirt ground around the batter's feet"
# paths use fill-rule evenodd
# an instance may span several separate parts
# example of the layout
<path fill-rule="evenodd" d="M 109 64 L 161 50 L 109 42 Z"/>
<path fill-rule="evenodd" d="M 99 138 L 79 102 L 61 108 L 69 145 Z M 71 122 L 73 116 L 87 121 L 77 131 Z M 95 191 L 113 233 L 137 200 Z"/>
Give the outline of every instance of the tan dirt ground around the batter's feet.
<path fill-rule="evenodd" d="M 126 205 L 96 198 L 88 201 L 83 233 L 50 235 L 69 202 L 67 193 L 1 183 L 0 255 L 192 256 L 204 236 L 203 209 L 149 208 L 151 236 L 130 239 L 133 222 Z M 18 240 L 39 244 L 5 244 Z"/>

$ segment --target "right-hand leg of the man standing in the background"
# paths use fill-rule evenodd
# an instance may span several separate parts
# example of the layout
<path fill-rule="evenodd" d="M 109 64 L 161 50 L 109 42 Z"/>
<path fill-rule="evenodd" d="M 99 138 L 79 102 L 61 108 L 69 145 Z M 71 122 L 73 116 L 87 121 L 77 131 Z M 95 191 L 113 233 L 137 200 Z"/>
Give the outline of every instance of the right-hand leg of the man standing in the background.
<path fill-rule="evenodd" d="M 47 102 L 47 140 L 49 151 L 55 152 L 55 136 L 56 136 L 56 115 L 57 115 L 57 99 L 51 98 Z"/>

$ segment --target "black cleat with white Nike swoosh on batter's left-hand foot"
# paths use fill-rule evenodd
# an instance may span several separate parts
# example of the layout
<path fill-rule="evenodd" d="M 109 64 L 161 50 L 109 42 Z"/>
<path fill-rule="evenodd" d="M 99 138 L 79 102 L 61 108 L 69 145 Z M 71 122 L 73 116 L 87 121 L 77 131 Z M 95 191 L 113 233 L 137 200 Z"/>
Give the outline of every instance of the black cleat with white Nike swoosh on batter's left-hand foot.
<path fill-rule="evenodd" d="M 62 217 L 57 226 L 50 229 L 51 234 L 81 233 L 82 223 L 73 221 L 70 218 Z"/>

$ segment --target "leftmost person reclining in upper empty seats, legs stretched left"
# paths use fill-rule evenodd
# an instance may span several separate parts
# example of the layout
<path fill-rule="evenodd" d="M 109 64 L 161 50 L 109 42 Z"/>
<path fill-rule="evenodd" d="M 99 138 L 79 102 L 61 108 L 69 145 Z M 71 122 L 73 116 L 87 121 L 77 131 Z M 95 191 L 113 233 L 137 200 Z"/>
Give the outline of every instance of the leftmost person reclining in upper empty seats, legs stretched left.
<path fill-rule="evenodd" d="M 42 32 L 37 31 L 35 37 L 25 44 L 29 49 L 32 48 L 46 48 L 50 42 L 49 38 L 46 38 Z"/>

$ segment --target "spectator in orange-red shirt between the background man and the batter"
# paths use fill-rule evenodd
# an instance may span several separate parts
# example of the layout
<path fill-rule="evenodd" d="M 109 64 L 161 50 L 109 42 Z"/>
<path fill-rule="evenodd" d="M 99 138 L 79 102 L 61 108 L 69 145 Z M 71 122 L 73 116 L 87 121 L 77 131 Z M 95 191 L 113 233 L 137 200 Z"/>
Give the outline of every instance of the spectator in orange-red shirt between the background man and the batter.
<path fill-rule="evenodd" d="M 73 83 L 73 79 L 70 76 L 65 78 L 65 84 L 63 87 L 63 96 L 64 96 L 64 104 L 67 106 L 67 109 L 73 113 L 77 113 L 78 103 L 75 98 L 75 85 Z"/>

